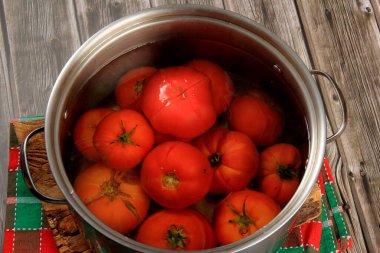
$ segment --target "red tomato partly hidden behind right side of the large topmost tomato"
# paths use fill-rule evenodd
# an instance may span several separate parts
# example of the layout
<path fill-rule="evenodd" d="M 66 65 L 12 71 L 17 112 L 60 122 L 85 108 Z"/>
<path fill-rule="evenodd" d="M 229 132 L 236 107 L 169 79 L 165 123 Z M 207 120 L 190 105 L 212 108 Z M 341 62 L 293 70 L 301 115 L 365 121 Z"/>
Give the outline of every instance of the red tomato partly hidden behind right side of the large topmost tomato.
<path fill-rule="evenodd" d="M 207 60 L 192 60 L 186 64 L 210 79 L 210 88 L 212 94 L 212 102 L 217 114 L 227 110 L 229 107 L 234 87 L 228 73 L 219 65 Z"/>

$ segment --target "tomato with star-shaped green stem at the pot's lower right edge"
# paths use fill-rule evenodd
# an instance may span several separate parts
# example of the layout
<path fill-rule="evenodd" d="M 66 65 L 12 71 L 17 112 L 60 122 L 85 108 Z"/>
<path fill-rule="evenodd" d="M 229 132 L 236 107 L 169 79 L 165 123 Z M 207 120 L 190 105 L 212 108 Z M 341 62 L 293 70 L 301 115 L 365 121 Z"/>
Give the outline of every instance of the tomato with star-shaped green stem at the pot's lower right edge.
<path fill-rule="evenodd" d="M 219 245 L 245 238 L 268 224 L 281 207 L 264 193 L 242 190 L 227 195 L 216 207 L 214 231 Z"/>

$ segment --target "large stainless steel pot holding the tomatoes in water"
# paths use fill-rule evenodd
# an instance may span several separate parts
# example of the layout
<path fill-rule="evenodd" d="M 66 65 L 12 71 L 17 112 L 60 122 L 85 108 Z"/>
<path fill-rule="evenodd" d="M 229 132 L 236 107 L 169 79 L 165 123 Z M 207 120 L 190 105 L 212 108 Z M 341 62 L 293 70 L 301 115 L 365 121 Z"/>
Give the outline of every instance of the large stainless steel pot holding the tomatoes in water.
<path fill-rule="evenodd" d="M 282 80 L 280 88 L 293 96 L 308 127 L 303 179 L 281 213 L 241 241 L 201 252 L 272 252 L 286 236 L 317 180 L 325 152 L 326 115 L 312 74 L 328 78 L 341 101 L 344 120 L 329 140 L 345 127 L 344 100 L 333 79 L 323 72 L 310 72 L 281 39 L 252 20 L 221 9 L 181 5 L 147 9 L 112 23 L 86 41 L 60 73 L 49 99 L 45 125 L 47 155 L 54 178 L 65 201 L 81 217 L 86 236 L 97 252 L 168 251 L 140 244 L 109 229 L 81 202 L 71 180 L 69 140 L 73 124 L 83 111 L 107 103 L 106 97 L 112 94 L 117 79 L 126 70 L 146 64 L 175 64 L 188 57 L 212 59 L 232 72 L 255 73 L 259 82 L 268 77 Z M 39 194 L 38 190 L 35 192 Z"/>

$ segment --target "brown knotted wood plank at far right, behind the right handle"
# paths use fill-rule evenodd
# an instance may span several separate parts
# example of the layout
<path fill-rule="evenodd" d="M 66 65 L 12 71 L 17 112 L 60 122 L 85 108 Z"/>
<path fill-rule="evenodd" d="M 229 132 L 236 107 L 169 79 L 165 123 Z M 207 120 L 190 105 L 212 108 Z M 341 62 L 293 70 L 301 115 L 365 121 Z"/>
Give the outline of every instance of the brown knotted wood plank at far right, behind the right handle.
<path fill-rule="evenodd" d="M 380 34 L 373 12 L 363 8 L 371 3 L 298 0 L 297 4 L 315 66 L 336 78 L 347 101 L 349 122 L 338 140 L 343 167 L 337 181 L 351 202 L 353 232 L 364 235 L 364 242 L 358 237 L 354 251 L 378 252 Z M 327 109 L 336 125 L 339 106 L 327 87 L 324 84 L 322 90 L 331 98 Z"/>

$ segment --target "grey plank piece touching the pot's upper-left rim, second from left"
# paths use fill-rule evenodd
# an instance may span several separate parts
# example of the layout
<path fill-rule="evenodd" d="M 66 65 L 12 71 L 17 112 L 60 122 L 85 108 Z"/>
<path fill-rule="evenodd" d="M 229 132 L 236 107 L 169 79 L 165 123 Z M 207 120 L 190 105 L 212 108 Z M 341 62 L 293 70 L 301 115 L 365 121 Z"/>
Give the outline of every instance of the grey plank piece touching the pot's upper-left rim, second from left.
<path fill-rule="evenodd" d="M 150 7 L 149 0 L 80 0 L 74 4 L 82 43 L 111 22 Z"/>

